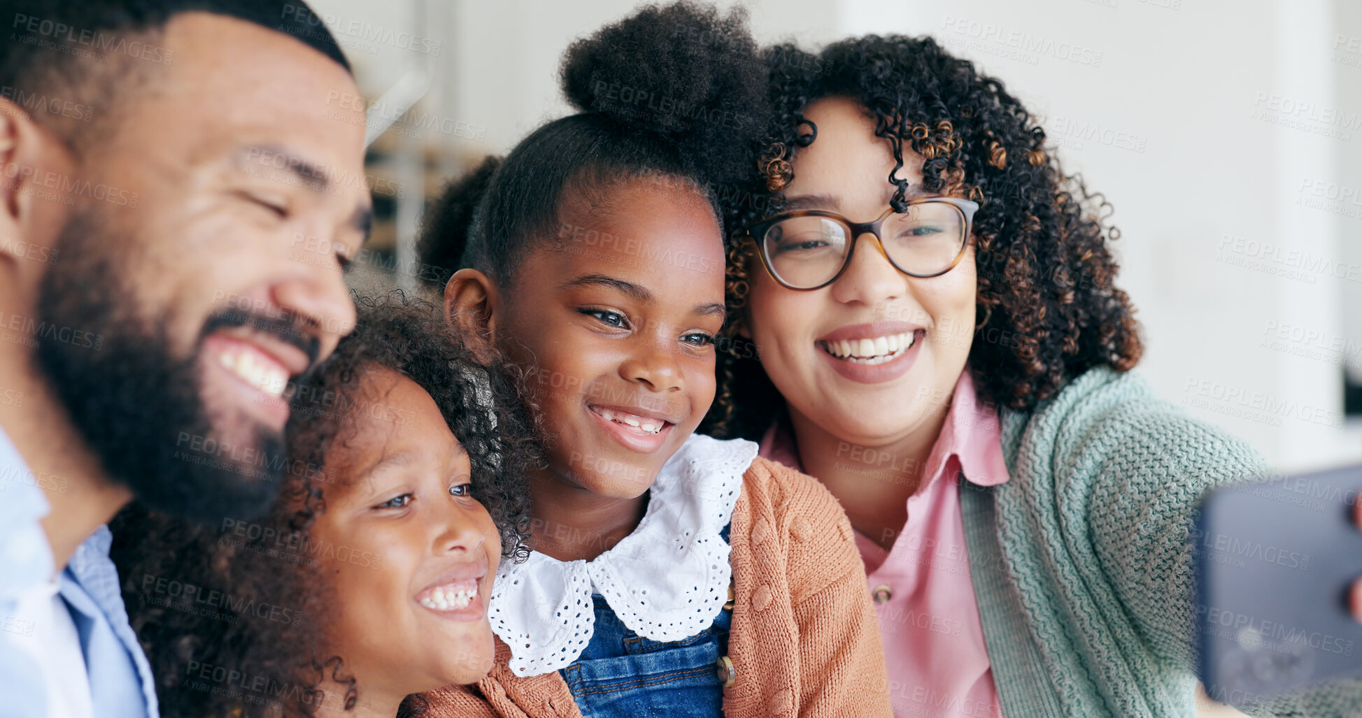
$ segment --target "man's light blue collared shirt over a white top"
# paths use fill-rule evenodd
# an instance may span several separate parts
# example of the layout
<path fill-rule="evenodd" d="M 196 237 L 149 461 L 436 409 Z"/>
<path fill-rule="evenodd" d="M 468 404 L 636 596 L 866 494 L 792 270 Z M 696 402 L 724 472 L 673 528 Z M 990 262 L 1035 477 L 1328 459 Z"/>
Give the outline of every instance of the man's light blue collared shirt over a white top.
<path fill-rule="evenodd" d="M 48 515 L 38 480 L 0 429 L 0 718 L 44 718 L 48 696 L 41 673 L 7 634 L 26 627 L 15 620 L 19 595 L 52 576 L 52 546 L 38 523 Z M 71 610 L 90 674 L 99 718 L 155 718 L 157 691 L 109 560 L 112 534 L 101 526 L 76 548 L 60 576 L 60 595 Z"/>

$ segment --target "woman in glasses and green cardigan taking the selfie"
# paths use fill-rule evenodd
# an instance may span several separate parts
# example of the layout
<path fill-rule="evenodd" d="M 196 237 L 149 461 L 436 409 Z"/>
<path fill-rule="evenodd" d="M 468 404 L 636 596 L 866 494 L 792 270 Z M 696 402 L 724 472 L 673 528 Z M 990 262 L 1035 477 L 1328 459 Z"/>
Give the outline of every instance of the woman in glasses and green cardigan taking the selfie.
<path fill-rule="evenodd" d="M 1264 465 L 1128 373 L 1115 232 L 932 40 L 767 57 L 770 136 L 727 195 L 746 341 L 707 426 L 847 511 L 896 715 L 1190 715 L 1190 518 Z"/>

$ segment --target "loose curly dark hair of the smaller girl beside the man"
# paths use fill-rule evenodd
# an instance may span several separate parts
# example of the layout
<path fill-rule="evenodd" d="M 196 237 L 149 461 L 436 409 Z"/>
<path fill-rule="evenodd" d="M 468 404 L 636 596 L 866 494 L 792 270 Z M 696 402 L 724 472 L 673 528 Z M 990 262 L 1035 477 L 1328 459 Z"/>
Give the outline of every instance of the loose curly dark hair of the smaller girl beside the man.
<path fill-rule="evenodd" d="M 504 559 L 528 556 L 526 475 L 542 443 L 518 375 L 477 362 L 428 301 L 394 290 L 355 294 L 355 304 L 354 332 L 294 386 L 281 495 L 264 518 L 199 526 L 131 505 L 112 525 L 110 555 L 162 715 L 309 715 L 324 676 L 347 687 L 347 708 L 355 703 L 362 687 L 342 657 L 324 653 L 334 601 L 308 530 L 328 488 L 351 478 L 328 470 L 327 455 L 375 406 L 361 380 L 376 368 L 434 399 L 469 452 L 473 493 L 501 533 Z M 402 714 L 421 715 L 419 698 Z"/>

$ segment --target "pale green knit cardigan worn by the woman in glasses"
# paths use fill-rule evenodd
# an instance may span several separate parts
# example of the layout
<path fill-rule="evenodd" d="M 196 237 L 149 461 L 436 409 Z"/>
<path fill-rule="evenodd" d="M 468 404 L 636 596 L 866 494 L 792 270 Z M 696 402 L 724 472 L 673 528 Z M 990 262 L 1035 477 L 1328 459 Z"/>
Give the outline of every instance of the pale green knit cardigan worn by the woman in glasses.
<path fill-rule="evenodd" d="M 1267 473 L 1246 443 L 1094 369 L 1002 411 L 1009 480 L 960 482 L 970 574 L 1002 714 L 1193 717 L 1197 503 Z M 1362 717 L 1362 680 L 1241 708 Z"/>

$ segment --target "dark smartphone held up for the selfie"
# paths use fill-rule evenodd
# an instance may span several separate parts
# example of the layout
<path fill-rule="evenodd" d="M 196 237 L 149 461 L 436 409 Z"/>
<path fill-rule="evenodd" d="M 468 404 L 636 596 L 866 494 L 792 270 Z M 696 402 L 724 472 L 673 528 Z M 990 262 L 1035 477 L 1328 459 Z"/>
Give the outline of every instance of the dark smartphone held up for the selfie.
<path fill-rule="evenodd" d="M 1234 484 L 1211 492 L 1192 527 L 1197 677 L 1241 706 L 1362 674 L 1362 576 L 1352 503 L 1362 466 Z"/>

